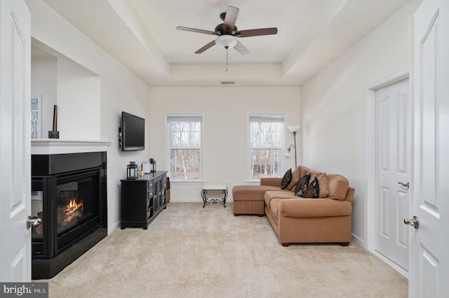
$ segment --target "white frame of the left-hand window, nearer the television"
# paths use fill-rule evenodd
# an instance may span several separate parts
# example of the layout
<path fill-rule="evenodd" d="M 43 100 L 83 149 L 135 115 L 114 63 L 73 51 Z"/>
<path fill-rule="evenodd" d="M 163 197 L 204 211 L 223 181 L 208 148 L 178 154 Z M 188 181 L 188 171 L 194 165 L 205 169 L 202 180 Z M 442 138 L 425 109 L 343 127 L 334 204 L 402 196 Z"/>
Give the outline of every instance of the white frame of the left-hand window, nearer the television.
<path fill-rule="evenodd" d="M 201 146 L 200 146 L 200 175 L 198 179 L 172 179 L 170 176 L 170 125 L 169 118 L 201 118 Z M 204 183 L 204 115 L 203 113 L 166 113 L 166 169 L 167 175 L 170 177 L 170 183 Z"/>

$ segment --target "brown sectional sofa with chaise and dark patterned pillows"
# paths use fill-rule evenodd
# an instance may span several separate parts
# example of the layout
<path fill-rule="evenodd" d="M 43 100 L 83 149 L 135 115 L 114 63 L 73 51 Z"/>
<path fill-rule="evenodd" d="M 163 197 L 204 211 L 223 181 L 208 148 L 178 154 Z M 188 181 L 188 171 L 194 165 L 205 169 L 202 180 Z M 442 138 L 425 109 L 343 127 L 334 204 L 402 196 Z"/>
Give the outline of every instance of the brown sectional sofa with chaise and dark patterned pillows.
<path fill-rule="evenodd" d="M 320 196 L 295 196 L 295 185 L 306 173 L 319 177 Z M 292 181 L 281 190 L 282 178 L 262 178 L 260 185 L 236 185 L 232 190 L 234 215 L 267 215 L 283 246 L 290 243 L 351 242 L 351 215 L 354 188 L 336 174 L 311 171 L 298 166 Z"/>

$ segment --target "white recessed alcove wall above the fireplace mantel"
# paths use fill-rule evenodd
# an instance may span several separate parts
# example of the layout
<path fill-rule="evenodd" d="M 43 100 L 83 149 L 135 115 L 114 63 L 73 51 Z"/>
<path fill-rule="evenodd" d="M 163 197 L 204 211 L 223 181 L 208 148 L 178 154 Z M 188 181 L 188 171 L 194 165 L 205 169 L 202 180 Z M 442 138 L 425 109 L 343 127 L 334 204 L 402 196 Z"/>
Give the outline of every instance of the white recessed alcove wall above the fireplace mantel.
<path fill-rule="evenodd" d="M 32 94 L 42 96 L 41 137 L 46 139 L 53 130 L 53 105 L 58 105 L 60 139 L 99 140 L 100 76 L 60 53 L 55 55 L 32 59 Z"/>

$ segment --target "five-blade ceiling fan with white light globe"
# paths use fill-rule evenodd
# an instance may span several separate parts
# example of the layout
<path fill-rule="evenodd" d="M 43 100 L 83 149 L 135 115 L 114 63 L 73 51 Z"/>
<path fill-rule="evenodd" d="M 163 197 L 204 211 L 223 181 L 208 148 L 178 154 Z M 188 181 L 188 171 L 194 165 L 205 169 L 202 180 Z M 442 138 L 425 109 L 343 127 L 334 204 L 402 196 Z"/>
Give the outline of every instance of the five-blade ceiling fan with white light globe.
<path fill-rule="evenodd" d="M 237 37 L 261 36 L 278 33 L 278 29 L 276 27 L 239 31 L 239 29 L 237 29 L 236 27 L 238 14 L 239 8 L 228 6 L 227 10 L 224 13 L 220 14 L 220 18 L 223 20 L 223 22 L 221 24 L 217 24 L 217 27 L 215 27 L 214 31 L 181 26 L 176 27 L 176 29 L 218 36 L 214 41 L 210 41 L 210 43 L 197 50 L 195 54 L 201 54 L 205 50 L 212 48 L 214 45 L 218 45 L 222 48 L 225 48 L 226 50 L 228 48 L 234 48 L 241 55 L 246 55 L 249 53 L 249 50 L 245 48 L 245 46 L 240 41 L 237 40 Z"/>

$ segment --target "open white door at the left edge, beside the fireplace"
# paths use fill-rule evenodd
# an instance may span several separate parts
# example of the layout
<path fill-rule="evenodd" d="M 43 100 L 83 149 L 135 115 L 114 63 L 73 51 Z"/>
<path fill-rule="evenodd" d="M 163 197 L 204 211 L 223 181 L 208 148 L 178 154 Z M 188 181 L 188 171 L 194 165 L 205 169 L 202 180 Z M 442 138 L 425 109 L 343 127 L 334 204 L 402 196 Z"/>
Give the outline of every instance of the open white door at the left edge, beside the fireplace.
<path fill-rule="evenodd" d="M 31 16 L 0 0 L 0 281 L 31 280 Z"/>

